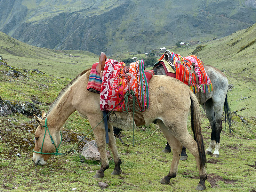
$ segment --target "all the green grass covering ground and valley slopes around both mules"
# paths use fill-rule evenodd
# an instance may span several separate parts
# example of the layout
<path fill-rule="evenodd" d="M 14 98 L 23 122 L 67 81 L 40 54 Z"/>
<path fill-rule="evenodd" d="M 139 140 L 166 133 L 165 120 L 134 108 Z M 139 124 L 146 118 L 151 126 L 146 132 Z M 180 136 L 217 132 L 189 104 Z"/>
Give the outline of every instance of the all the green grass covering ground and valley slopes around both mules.
<path fill-rule="evenodd" d="M 228 92 L 231 109 L 239 109 L 242 105 L 239 106 L 238 104 L 246 105 L 246 102 L 248 102 L 249 108 L 237 112 L 238 115 L 232 115 L 234 131 L 231 134 L 224 131 L 221 133 L 220 157 L 216 159 L 207 156 L 208 179 L 205 183 L 207 190 L 216 192 L 238 192 L 241 190 L 253 192 L 256 190 L 256 118 L 250 117 L 254 115 L 253 104 L 255 102 L 255 84 L 252 82 L 252 79 L 255 79 L 255 73 L 252 71 L 252 65 L 255 63 L 253 61 L 255 44 L 251 44 L 255 37 L 255 27 L 253 25 L 231 36 L 208 42 L 201 51 L 196 53 L 205 64 L 226 70 L 224 73 L 228 76 L 229 83 L 234 85 L 232 91 Z M 0 96 L 2 100 L 31 102 L 31 98 L 36 97 L 42 103 L 39 108 L 45 111 L 49 109 L 49 104 L 57 97 L 60 90 L 70 82 L 70 77 L 75 77 L 82 71 L 83 67 L 79 72 L 76 72 L 74 68 L 70 70 L 68 62 L 65 61 L 69 59 L 68 55 L 70 53 L 80 55 L 82 58 L 71 57 L 71 60 L 82 61 L 87 58 L 87 54 L 91 54 L 65 51 L 64 53 L 67 54 L 65 55 L 63 52 L 22 44 L 4 34 L 1 34 L 0 37 L 0 54 L 8 59 L 9 65 L 24 75 L 7 76 L 6 72 L 10 70 L 10 67 L 0 66 Z M 244 45 L 250 46 L 236 53 Z M 17 52 L 15 51 L 16 46 L 20 47 Z M 186 56 L 195 50 L 196 45 L 186 48 L 169 48 Z M 10 51 L 6 51 L 6 49 Z M 10 52 L 16 55 L 12 55 Z M 30 56 L 24 57 L 27 52 Z M 44 54 L 47 56 L 44 57 Z M 121 57 L 129 56 L 127 53 L 118 54 L 117 58 Z M 98 57 L 92 55 L 92 58 L 97 61 Z M 116 55 L 111 58 L 116 58 Z M 45 66 L 40 70 L 46 74 L 23 70 L 22 66 L 25 69 L 31 69 L 30 66 L 33 65 L 37 65 L 36 68 L 40 67 L 41 65 L 37 64 L 37 60 L 44 63 Z M 47 62 L 52 62 L 54 65 L 47 67 L 50 65 Z M 59 65 L 55 65 L 55 62 Z M 60 69 L 61 62 L 63 62 L 63 68 Z M 89 63 L 88 60 L 88 65 Z M 244 68 L 247 69 L 244 70 Z M 244 72 L 242 73 L 242 71 Z M 252 91 L 249 90 L 248 86 L 251 87 Z M 242 91 L 240 91 L 241 89 Z M 246 92 L 247 89 L 248 92 Z M 239 100 L 245 95 L 252 97 Z M 244 116 L 242 116 L 243 114 Z M 203 110 L 202 117 L 204 141 L 205 145 L 208 146 L 211 129 Z M 123 162 L 121 165 L 123 174 L 110 175 L 114 169 L 114 162 L 110 160 L 110 168 L 105 171 L 105 177 L 93 179 L 92 176 L 100 168 L 100 163 L 86 161 L 79 156 L 79 153 L 68 156 L 52 156 L 45 166 L 33 166 L 31 157 L 34 146 L 29 146 L 25 139 L 33 144 L 36 126 L 32 117 L 18 113 L 0 117 L 0 191 L 71 191 L 72 188 L 77 188 L 76 191 L 102 191 L 98 186 L 100 181 L 109 185 L 104 191 L 196 191 L 199 175 L 196 171 L 195 159 L 189 152 L 188 160 L 179 164 L 177 177 L 172 179 L 168 185 L 159 183 L 159 180 L 169 172 L 172 160 L 172 153 L 161 153 L 166 140 L 160 131 L 157 131 L 147 140 L 136 143 L 135 147 L 123 146 L 117 140 L 118 151 Z M 190 129 L 189 127 L 188 119 L 188 129 Z M 135 140 L 148 136 L 155 129 L 156 126 L 153 124 L 138 128 L 135 133 Z M 70 141 L 67 142 L 68 140 L 64 139 L 60 152 L 72 148 L 78 142 L 77 136 L 88 133 L 91 126 L 88 120 L 82 119 L 75 112 L 68 118 L 62 130 L 63 138 L 67 137 Z M 125 143 L 131 143 L 132 131 L 122 132 L 122 137 Z M 92 134 L 88 138 L 94 139 Z M 21 156 L 17 156 L 17 153 L 20 153 Z"/>

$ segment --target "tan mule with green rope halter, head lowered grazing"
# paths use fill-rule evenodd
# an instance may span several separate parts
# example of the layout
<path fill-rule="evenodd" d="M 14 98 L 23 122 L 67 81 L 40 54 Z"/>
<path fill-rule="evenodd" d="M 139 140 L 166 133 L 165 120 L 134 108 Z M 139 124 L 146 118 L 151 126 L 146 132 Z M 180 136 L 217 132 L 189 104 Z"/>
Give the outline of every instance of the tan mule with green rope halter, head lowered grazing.
<path fill-rule="evenodd" d="M 57 152 L 56 146 L 60 145 L 61 140 L 60 129 L 73 112 L 77 111 L 80 116 L 88 119 L 92 128 L 102 119 L 100 94 L 86 90 L 89 74 L 90 70 L 88 69 L 62 89 L 49 112 L 43 113 L 43 119 L 35 115 L 39 126 L 35 132 L 34 165 L 46 164 L 49 156 Z M 152 122 L 159 125 L 173 151 L 170 172 L 160 182 L 167 184 L 171 178 L 176 177 L 180 153 L 182 145 L 184 145 L 196 158 L 200 176 L 196 189 L 204 190 L 204 183 L 207 179 L 206 156 L 200 124 L 200 107 L 196 96 L 187 85 L 168 76 L 153 76 L 149 82 L 149 91 L 150 107 L 142 112 L 142 115 L 146 125 Z M 191 129 L 194 139 L 187 129 L 189 110 L 191 111 Z M 133 118 L 131 112 L 115 111 L 115 114 L 117 121 L 108 123 L 110 129 L 108 146 L 115 162 L 115 168 L 111 174 L 119 175 L 122 172 L 120 169 L 122 162 L 117 152 L 113 126 L 122 129 L 132 128 Z M 104 171 L 109 168 L 104 123 L 101 122 L 93 129 L 93 133 L 101 156 L 101 167 L 93 177 L 102 178 Z"/>

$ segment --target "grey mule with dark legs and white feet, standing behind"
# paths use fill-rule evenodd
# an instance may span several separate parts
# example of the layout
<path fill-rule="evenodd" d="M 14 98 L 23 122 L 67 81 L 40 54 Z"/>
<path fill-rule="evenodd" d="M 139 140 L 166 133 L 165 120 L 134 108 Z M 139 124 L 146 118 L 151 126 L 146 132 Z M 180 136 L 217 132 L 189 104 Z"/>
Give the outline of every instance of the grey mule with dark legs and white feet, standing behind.
<path fill-rule="evenodd" d="M 209 119 L 212 128 L 211 142 L 209 147 L 206 149 L 206 153 L 208 155 L 212 155 L 212 150 L 215 148 L 212 156 L 219 157 L 220 132 L 222 129 L 221 117 L 223 115 L 223 108 L 227 114 L 229 131 L 231 132 L 232 129 L 231 113 L 227 100 L 228 79 L 219 69 L 215 67 L 205 65 L 204 68 L 211 79 L 213 90 L 209 93 L 197 92 L 196 96 L 200 105 L 202 105 L 203 108 L 205 107 L 206 116 Z M 154 72 L 156 75 L 165 75 L 164 67 L 162 65 L 158 65 L 156 68 L 154 68 Z"/>

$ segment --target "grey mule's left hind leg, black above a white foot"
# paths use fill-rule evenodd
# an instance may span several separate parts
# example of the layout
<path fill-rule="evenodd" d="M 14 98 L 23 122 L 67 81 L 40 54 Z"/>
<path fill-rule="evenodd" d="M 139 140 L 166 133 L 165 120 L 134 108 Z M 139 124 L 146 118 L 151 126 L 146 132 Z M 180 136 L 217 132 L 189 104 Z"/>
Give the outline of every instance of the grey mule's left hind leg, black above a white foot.
<path fill-rule="evenodd" d="M 211 141 L 210 141 L 209 147 L 206 149 L 206 153 L 208 155 L 212 155 L 212 149 L 214 149 L 216 144 L 215 113 L 214 113 L 212 99 L 209 99 L 205 102 L 205 110 L 206 110 L 206 116 L 212 128 Z"/>

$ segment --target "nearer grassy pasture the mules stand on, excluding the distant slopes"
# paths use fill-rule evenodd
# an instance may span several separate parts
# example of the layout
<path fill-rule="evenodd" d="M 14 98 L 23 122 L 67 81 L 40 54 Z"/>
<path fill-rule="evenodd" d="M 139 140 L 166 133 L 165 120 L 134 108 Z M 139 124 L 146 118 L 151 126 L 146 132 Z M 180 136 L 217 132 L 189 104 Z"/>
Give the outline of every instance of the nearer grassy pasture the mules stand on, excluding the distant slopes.
<path fill-rule="evenodd" d="M 21 69 L 15 69 L 24 73 Z M 49 108 L 47 104 L 49 100 L 54 100 L 59 91 L 70 81 L 67 78 L 36 73 L 26 74 L 29 79 L 23 77 L 14 79 L 4 75 L 4 71 L 7 70 L 9 67 L 0 66 L 1 88 L 10 95 L 6 94 L 4 99 L 11 99 L 12 95 L 16 97 L 20 95 L 22 101 L 26 100 L 23 98 L 24 94 L 27 98 L 30 94 L 36 94 L 38 100 L 44 103 L 40 108 L 46 111 Z M 38 86 L 39 80 L 45 86 Z M 12 87 L 13 81 L 19 82 L 15 88 Z M 211 128 L 203 110 L 202 114 L 202 130 L 207 146 L 210 142 Z M 228 129 L 222 132 L 221 156 L 218 159 L 207 156 L 208 179 L 205 186 L 208 190 L 252 192 L 256 189 L 256 119 L 243 117 L 245 120 L 243 123 L 241 117 L 233 114 L 234 132 L 230 134 Z M 123 173 L 119 176 L 110 175 L 114 169 L 114 161 L 110 160 L 110 167 L 105 171 L 105 177 L 94 179 L 92 176 L 100 168 L 100 162 L 87 161 L 78 152 L 68 156 L 52 156 L 46 165 L 34 166 L 32 162 L 34 146 L 28 143 L 33 144 L 37 124 L 31 117 L 17 113 L 0 117 L 0 122 L 1 191 L 17 191 L 15 187 L 18 191 L 72 191 L 72 188 L 76 188 L 76 191 L 101 191 L 98 186 L 100 181 L 108 183 L 105 191 L 196 191 L 199 174 L 196 171 L 195 159 L 190 152 L 188 152 L 188 160 L 180 162 L 177 177 L 168 185 L 159 183 L 162 176 L 169 171 L 172 161 L 172 153 L 161 152 L 165 138 L 160 131 L 136 143 L 135 147 L 123 146 L 117 140 L 117 148 L 123 162 L 121 167 Z M 135 132 L 135 139 L 144 138 L 155 129 L 154 124 L 139 127 Z M 87 120 L 82 119 L 75 112 L 68 118 L 62 130 L 64 141 L 60 152 L 65 152 L 78 142 L 77 136 L 85 135 L 91 127 Z M 190 131 L 190 127 L 188 130 Z M 132 131 L 122 132 L 122 138 L 125 143 L 130 143 Z M 90 139 L 94 139 L 92 134 L 87 140 Z M 77 150 L 79 151 L 81 147 L 79 146 Z M 17 153 L 20 156 L 17 156 Z"/>

